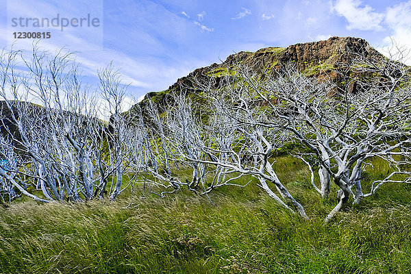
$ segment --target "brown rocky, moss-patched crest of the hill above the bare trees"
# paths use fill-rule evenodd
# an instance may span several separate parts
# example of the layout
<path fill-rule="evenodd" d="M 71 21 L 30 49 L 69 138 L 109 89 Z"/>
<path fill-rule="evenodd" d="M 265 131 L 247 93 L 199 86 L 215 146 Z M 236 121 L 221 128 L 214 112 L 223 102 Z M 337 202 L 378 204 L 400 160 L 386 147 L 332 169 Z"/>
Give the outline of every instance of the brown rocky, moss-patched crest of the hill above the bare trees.
<path fill-rule="evenodd" d="M 205 79 L 207 77 L 218 77 L 229 74 L 229 68 L 238 64 L 249 66 L 257 73 L 263 70 L 280 69 L 288 63 L 295 64 L 297 69 L 309 77 L 323 77 L 325 73 L 334 81 L 340 81 L 338 75 L 333 73 L 343 63 L 350 62 L 356 56 L 364 58 L 377 58 L 382 56 L 366 40 L 353 37 L 332 37 L 319 42 L 307 42 L 291 45 L 286 48 L 268 47 L 260 49 L 255 53 L 240 51 L 229 55 L 227 60 L 221 64 L 211 64 L 196 69 L 186 77 L 177 79 L 177 82 L 162 92 L 149 92 L 140 103 L 145 108 L 148 99 L 153 99 L 160 105 L 166 105 L 166 95 L 172 90 L 180 90 L 182 86 L 190 92 L 193 77 Z M 205 79 L 206 80 L 206 79 Z M 194 87 L 192 87 L 194 89 Z"/>

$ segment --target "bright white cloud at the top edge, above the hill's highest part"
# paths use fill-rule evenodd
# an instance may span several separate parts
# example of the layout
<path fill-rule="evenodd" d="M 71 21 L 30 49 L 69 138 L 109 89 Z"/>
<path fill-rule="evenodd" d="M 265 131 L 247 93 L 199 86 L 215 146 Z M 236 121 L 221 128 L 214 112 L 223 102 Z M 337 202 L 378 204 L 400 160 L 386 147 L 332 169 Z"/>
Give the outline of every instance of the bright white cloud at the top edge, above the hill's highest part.
<path fill-rule="evenodd" d="M 369 5 L 361 6 L 358 0 L 337 0 L 334 10 L 348 21 L 347 29 L 382 30 L 384 14 L 374 12 Z"/>

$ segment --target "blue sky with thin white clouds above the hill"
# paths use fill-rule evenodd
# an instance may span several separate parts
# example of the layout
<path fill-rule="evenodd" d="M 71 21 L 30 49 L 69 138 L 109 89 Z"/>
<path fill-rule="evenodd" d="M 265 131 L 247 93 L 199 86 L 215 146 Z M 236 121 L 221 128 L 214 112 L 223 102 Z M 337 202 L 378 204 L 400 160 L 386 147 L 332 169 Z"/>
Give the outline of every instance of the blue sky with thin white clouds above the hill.
<path fill-rule="evenodd" d="M 52 1 L 1 0 L 0 46 L 13 32 L 51 32 L 40 46 L 77 51 L 89 82 L 110 61 L 135 98 L 238 51 L 286 47 L 330 36 L 357 36 L 382 49 L 394 38 L 411 49 L 411 1 Z M 98 27 L 12 27 L 12 18 L 99 19 Z M 14 48 L 30 49 L 18 39 Z"/>

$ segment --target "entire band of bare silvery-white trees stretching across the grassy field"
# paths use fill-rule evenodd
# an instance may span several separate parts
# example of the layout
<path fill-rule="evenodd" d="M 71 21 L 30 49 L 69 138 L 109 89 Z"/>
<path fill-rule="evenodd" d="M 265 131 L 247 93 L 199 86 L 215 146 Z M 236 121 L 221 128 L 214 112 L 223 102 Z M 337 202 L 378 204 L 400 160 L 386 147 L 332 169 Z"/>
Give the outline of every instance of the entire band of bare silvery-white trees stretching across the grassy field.
<path fill-rule="evenodd" d="M 321 198 L 330 198 L 333 183 L 338 188 L 325 221 L 386 183 L 410 182 L 410 73 L 388 58 L 359 55 L 340 64 L 339 82 L 306 77 L 292 65 L 256 73 L 238 64 L 223 77 L 192 79 L 199 101 L 175 92 L 166 108 L 149 101 L 127 112 L 127 86 L 112 64 L 98 72 L 94 90 L 64 50 L 50 55 L 34 47 L 32 58 L 5 52 L 0 64 L 3 199 L 114 200 L 126 173 L 159 188 L 153 192 L 160 197 L 182 186 L 208 197 L 221 186 L 247 186 L 238 179 L 249 176 L 308 219 L 275 172 L 274 152 L 290 144 L 305 147 L 287 153 L 307 164 Z M 108 121 L 99 119 L 101 110 Z M 362 172 L 375 159 L 388 164 L 388 174 L 364 186 Z M 181 170 L 190 179 L 176 175 Z"/>

